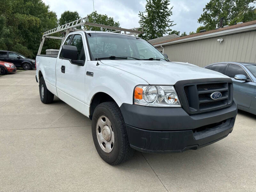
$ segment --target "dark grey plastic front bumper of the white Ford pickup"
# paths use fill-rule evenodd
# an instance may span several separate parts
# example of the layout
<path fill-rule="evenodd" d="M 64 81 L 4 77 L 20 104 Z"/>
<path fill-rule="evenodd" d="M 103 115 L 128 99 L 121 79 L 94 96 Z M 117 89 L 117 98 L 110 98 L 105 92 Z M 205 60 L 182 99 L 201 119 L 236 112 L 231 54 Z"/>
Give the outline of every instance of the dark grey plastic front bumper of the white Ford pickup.
<path fill-rule="evenodd" d="M 232 132 L 237 105 L 189 116 L 182 108 L 122 104 L 130 146 L 146 153 L 182 152 L 197 149 Z"/>

